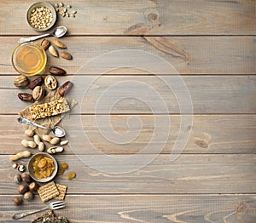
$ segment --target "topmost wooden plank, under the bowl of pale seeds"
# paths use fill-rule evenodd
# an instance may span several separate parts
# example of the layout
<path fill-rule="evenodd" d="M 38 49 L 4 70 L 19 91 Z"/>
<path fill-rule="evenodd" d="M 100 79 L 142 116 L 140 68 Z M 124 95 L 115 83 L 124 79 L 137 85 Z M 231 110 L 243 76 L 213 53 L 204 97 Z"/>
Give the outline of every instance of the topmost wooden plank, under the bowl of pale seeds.
<path fill-rule="evenodd" d="M 2 3 L 0 35 L 37 34 L 26 24 L 26 10 L 32 3 L 33 0 Z M 78 0 L 73 3 L 73 10 L 78 11 L 75 19 L 59 16 L 56 23 L 67 26 L 72 35 L 255 34 L 255 3 L 249 0 Z"/>

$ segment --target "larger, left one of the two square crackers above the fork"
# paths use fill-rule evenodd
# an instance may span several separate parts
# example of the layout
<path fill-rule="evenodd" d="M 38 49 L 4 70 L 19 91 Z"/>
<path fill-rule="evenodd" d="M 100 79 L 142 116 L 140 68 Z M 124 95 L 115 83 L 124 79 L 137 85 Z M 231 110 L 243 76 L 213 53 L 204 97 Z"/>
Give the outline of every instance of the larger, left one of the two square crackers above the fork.
<path fill-rule="evenodd" d="M 51 198 L 54 198 L 60 194 L 55 182 L 51 181 L 44 186 L 40 186 L 38 189 L 38 194 L 41 197 L 43 202 L 49 201 Z"/>

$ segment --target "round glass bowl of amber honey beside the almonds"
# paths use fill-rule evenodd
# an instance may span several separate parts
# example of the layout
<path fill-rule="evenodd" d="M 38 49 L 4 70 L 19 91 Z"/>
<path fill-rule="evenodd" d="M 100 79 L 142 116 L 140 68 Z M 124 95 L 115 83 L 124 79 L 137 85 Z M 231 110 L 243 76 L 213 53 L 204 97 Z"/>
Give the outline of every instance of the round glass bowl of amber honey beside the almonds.
<path fill-rule="evenodd" d="M 46 63 L 47 54 L 37 43 L 21 43 L 12 54 L 15 70 L 28 77 L 44 72 Z"/>

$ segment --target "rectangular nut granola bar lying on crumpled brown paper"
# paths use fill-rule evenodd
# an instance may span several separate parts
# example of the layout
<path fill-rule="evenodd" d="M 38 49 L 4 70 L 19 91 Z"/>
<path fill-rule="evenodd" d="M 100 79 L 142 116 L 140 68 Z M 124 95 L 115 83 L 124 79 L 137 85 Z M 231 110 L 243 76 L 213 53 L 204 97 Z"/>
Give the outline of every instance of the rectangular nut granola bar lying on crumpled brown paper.
<path fill-rule="evenodd" d="M 63 112 L 70 111 L 67 100 L 65 98 L 60 98 L 58 100 L 53 100 L 44 104 L 31 106 L 29 108 L 30 115 L 33 120 L 51 117 L 59 115 Z"/>

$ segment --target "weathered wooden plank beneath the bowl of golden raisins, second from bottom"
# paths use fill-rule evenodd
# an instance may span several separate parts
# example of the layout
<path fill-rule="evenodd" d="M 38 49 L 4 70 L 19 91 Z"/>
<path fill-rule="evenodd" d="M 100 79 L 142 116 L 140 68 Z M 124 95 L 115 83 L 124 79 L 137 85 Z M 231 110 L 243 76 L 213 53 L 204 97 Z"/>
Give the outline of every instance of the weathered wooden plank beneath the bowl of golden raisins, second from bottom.
<path fill-rule="evenodd" d="M 256 155 L 180 155 L 172 162 L 169 155 L 137 154 L 136 157 L 106 155 L 58 155 L 67 162 L 67 173 L 55 181 L 68 186 L 68 194 L 84 193 L 253 193 L 256 190 Z M 83 162 L 82 162 L 82 161 Z M 20 161 L 27 163 L 27 159 Z M 148 164 L 147 164 L 148 163 Z M 9 156 L 0 156 L 0 193 L 13 194 L 16 170 Z"/>

